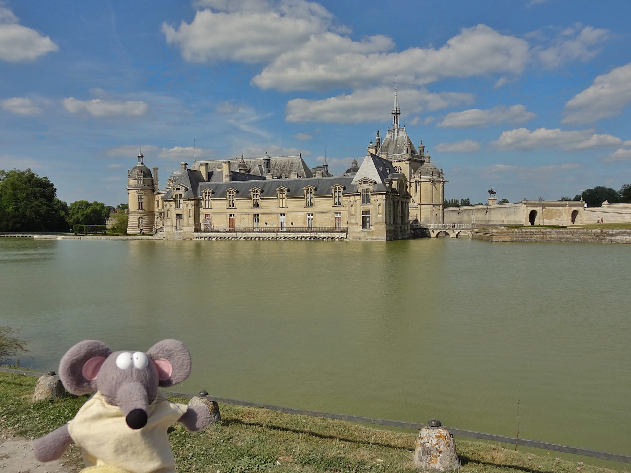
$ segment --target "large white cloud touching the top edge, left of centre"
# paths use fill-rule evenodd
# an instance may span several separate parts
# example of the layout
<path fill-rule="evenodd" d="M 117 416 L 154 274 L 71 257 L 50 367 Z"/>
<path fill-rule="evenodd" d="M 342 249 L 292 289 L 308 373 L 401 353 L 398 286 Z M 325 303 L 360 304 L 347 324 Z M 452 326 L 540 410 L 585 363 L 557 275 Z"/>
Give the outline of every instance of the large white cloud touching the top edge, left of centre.
<path fill-rule="evenodd" d="M 199 1 L 191 23 L 162 24 L 167 43 L 187 61 L 267 62 L 329 28 L 332 15 L 317 3 Z"/>

